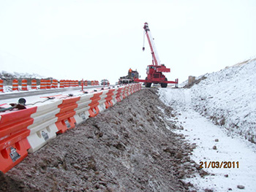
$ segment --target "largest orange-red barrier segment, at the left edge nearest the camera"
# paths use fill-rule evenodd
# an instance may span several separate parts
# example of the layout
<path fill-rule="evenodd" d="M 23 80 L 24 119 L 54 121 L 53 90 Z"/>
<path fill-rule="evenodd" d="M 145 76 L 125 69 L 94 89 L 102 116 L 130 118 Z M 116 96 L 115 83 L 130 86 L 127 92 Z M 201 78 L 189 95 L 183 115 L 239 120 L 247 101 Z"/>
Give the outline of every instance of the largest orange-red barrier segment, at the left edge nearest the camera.
<path fill-rule="evenodd" d="M 22 161 L 30 148 L 27 127 L 33 123 L 31 114 L 37 107 L 1 113 L 0 116 L 0 171 L 6 173 Z"/>

